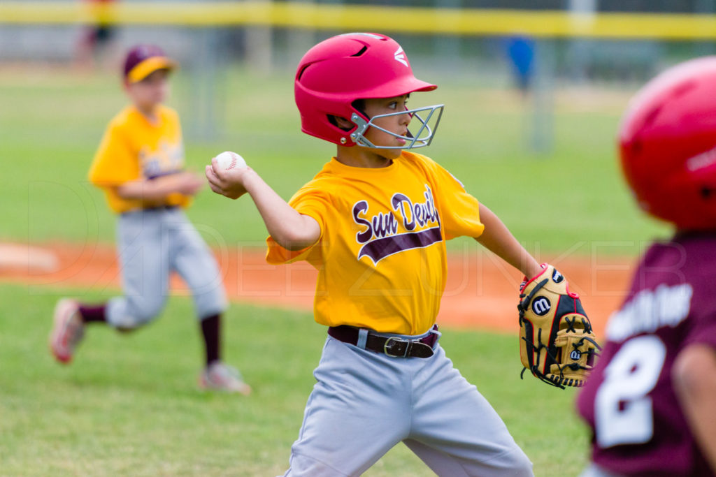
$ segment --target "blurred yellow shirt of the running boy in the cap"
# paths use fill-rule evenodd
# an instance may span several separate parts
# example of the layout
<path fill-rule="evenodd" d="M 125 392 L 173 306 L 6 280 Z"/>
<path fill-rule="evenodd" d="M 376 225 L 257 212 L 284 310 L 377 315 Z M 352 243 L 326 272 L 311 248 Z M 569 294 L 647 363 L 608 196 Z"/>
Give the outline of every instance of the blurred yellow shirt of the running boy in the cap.
<path fill-rule="evenodd" d="M 128 210 L 180 205 L 189 197 L 171 194 L 161 204 L 125 200 L 116 187 L 133 180 L 155 179 L 180 172 L 184 168 L 184 147 L 178 114 L 158 107 L 158 122 L 153 124 L 134 106 L 128 106 L 110 121 L 89 169 L 89 181 L 105 190 L 110 208 L 117 213 Z"/>

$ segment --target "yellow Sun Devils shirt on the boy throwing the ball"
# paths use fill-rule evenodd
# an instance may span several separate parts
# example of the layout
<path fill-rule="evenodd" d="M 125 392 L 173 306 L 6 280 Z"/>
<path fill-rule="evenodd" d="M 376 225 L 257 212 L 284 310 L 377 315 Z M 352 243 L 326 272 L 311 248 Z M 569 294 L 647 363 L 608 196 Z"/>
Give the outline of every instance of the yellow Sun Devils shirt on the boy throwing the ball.
<path fill-rule="evenodd" d="M 478 200 L 450 172 L 407 151 L 378 169 L 334 158 L 289 204 L 319 223 L 321 237 L 298 252 L 269 237 L 266 260 L 307 260 L 319 270 L 318 323 L 380 333 L 429 330 L 445 290 L 445 240 L 484 229 Z"/>

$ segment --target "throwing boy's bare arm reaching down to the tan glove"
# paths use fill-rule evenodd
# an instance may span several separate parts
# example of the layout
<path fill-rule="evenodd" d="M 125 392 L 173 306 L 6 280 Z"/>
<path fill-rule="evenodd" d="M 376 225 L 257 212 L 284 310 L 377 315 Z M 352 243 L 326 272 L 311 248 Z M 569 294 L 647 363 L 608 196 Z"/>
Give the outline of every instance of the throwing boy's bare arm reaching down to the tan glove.
<path fill-rule="evenodd" d="M 480 245 L 520 270 L 526 277 L 534 277 L 542 272 L 537 260 L 520 245 L 502 220 L 483 204 L 480 204 L 480 222 L 485 225 L 483 234 L 475 238 Z"/>

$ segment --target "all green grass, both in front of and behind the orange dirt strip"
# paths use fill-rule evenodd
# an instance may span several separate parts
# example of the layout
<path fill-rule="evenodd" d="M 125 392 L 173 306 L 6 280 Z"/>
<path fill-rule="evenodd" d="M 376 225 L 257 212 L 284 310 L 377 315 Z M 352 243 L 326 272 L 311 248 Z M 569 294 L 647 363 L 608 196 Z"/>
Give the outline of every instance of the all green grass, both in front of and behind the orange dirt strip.
<path fill-rule="evenodd" d="M 539 156 L 526 148 L 528 113 L 510 92 L 476 88 L 470 78 L 420 76 L 440 89 L 416 94 L 412 105 L 447 105 L 426 153 L 531 250 L 588 254 L 606 243 L 611 246 L 600 250 L 634 255 L 640 242 L 667 233 L 635 209 L 619 177 L 614 133 L 629 92 L 609 101 L 597 92 L 586 105 L 559 97 L 555 150 Z M 187 130 L 190 93 L 179 74 L 170 104 Z M 125 103 L 119 82 L 0 70 L 0 97 L 0 240 L 112 242 L 114 219 L 84 177 L 107 121 Z M 219 139 L 196 142 L 187 134 L 190 167 L 202 169 L 217 152 L 233 149 L 288 198 L 332 154 L 328 144 L 299 132 L 291 72 L 228 72 L 223 104 L 226 129 Z M 190 216 L 212 245 L 263 242 L 265 229 L 249 200 L 229 202 L 206 190 Z M 0 285 L 0 475 L 284 471 L 325 336 L 310 315 L 232 305 L 227 358 L 255 393 L 203 395 L 195 388 L 200 338 L 185 298 L 170 300 L 158 322 L 133 335 L 89 329 L 76 363 L 54 363 L 47 352 L 54 302 L 81 292 Z M 573 390 L 520 380 L 515 336 L 447 330 L 442 344 L 493 403 L 536 475 L 579 472 L 587 436 L 574 415 Z M 431 473 L 398 446 L 367 475 Z"/>

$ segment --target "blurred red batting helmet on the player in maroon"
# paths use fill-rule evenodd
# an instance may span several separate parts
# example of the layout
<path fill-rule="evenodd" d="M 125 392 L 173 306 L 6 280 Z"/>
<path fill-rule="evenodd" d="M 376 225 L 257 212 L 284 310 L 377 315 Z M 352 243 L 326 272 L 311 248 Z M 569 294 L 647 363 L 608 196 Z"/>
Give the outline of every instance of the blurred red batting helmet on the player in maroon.
<path fill-rule="evenodd" d="M 621 167 L 639 206 L 682 230 L 716 228 L 716 56 L 677 65 L 632 99 Z"/>

